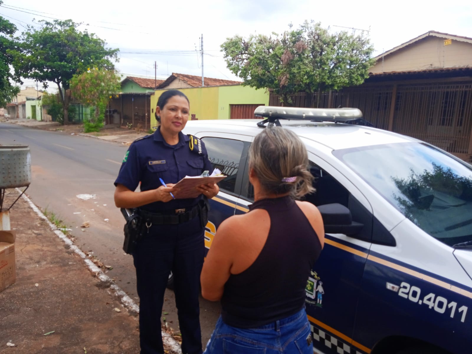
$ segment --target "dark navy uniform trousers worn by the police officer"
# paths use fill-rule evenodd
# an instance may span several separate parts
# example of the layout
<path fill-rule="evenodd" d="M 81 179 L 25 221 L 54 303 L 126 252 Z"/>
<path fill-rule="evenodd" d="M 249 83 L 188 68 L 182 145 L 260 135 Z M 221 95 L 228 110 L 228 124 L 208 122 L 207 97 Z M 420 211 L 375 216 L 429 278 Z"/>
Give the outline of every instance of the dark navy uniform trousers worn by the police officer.
<path fill-rule="evenodd" d="M 201 354 L 200 273 L 204 228 L 197 216 L 177 225 L 152 225 L 133 253 L 139 295 L 141 354 L 163 354 L 161 312 L 172 270 L 182 353 Z"/>

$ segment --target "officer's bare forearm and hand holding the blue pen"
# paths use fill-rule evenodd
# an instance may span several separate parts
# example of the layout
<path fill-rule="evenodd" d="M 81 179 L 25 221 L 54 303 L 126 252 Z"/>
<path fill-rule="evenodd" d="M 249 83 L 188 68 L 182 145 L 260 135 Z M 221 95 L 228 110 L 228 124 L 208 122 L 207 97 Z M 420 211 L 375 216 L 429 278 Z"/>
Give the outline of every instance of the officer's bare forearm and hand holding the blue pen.
<path fill-rule="evenodd" d="M 157 189 L 144 192 L 133 192 L 125 185 L 119 184 L 115 188 L 115 205 L 118 208 L 137 208 L 152 202 L 169 202 L 172 200 L 170 191 L 174 184 L 169 183 L 167 187 L 161 185 Z"/>

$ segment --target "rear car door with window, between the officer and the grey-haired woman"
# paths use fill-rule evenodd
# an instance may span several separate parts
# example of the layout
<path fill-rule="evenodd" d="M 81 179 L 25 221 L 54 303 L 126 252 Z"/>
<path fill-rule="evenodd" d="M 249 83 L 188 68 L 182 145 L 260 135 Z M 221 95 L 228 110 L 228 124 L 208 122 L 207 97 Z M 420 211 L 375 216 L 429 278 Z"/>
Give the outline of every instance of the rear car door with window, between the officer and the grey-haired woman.
<path fill-rule="evenodd" d="M 205 247 L 210 249 L 219 224 L 235 213 L 247 212 L 247 204 L 240 203 L 239 195 L 245 173 L 245 162 L 252 137 L 219 132 L 200 132 L 213 165 L 227 177 L 218 183 L 219 193 L 210 200 L 209 219 L 205 230 Z M 208 251 L 207 251 L 208 252 Z"/>

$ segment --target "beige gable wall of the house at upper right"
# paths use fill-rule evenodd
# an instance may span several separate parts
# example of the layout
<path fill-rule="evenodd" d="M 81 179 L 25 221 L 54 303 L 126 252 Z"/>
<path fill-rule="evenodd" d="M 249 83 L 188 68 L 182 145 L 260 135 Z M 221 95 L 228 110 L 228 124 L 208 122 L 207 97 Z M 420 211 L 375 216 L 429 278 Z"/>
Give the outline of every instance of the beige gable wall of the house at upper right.
<path fill-rule="evenodd" d="M 444 67 L 472 67 L 472 44 L 452 40 L 444 45 L 447 38 L 428 36 L 405 48 L 379 58 L 371 68 L 372 74 L 420 71 Z"/>

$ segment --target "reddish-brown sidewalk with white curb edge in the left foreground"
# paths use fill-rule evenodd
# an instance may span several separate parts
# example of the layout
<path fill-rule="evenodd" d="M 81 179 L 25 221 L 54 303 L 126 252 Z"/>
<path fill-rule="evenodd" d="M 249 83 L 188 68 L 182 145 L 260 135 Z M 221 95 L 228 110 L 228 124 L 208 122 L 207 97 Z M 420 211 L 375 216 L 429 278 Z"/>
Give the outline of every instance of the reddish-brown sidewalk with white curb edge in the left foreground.
<path fill-rule="evenodd" d="M 8 189 L 4 208 L 18 195 Z M 27 197 L 11 208 L 10 228 L 17 233 L 16 282 L 0 292 L 0 353 L 139 353 L 137 299 Z M 163 337 L 166 353 L 180 353 L 174 337 Z"/>

